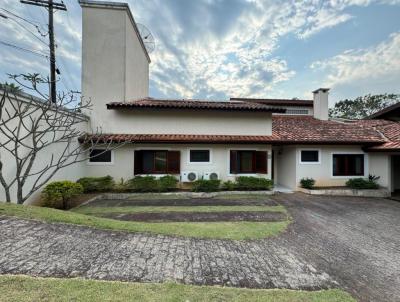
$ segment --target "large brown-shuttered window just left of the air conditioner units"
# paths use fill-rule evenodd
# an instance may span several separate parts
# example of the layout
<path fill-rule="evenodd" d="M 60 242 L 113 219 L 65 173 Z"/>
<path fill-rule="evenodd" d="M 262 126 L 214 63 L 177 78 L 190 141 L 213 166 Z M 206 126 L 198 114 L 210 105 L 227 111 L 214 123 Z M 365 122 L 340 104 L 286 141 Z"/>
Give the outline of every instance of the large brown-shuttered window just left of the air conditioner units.
<path fill-rule="evenodd" d="M 179 174 L 180 152 L 166 150 L 135 151 L 134 174 Z"/>

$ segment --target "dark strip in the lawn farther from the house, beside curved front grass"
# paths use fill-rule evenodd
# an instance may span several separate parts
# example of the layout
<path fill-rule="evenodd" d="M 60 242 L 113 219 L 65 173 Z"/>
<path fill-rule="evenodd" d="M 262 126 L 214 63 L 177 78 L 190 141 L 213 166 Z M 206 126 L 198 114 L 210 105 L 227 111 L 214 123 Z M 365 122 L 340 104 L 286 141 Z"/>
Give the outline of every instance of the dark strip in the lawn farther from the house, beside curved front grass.
<path fill-rule="evenodd" d="M 113 213 L 102 217 L 146 222 L 215 222 L 215 221 L 283 221 L 286 214 L 277 212 L 164 212 L 164 213 Z"/>

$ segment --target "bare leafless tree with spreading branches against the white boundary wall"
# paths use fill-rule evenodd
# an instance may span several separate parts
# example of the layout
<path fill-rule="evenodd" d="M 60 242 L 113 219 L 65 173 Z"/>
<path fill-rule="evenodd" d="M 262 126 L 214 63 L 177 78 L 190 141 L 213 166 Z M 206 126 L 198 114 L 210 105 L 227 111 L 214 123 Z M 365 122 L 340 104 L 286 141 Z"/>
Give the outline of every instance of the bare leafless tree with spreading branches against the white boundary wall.
<path fill-rule="evenodd" d="M 83 112 L 90 110 L 91 103 L 79 93 L 58 93 L 54 104 L 41 92 L 42 86 L 49 85 L 48 79 L 38 74 L 12 78 L 25 91 L 39 97 L 7 89 L 1 92 L 0 184 L 7 202 L 12 199 L 14 186 L 16 201 L 22 204 L 59 170 L 88 160 L 90 149 L 101 147 L 106 152 L 125 144 L 104 140 L 99 129 L 88 132 L 88 118 Z M 78 138 L 83 138 L 81 144 Z M 14 163 L 9 162 L 10 158 Z M 11 176 L 5 175 L 5 160 L 15 165 Z"/>

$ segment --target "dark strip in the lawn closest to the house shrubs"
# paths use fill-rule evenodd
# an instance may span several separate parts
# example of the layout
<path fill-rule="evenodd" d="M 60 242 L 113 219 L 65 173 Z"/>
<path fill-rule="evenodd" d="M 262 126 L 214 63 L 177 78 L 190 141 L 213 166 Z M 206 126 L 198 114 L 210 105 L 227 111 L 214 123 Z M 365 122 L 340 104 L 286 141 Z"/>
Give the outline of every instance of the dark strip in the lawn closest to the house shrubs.
<path fill-rule="evenodd" d="M 95 200 L 90 203 L 96 207 L 126 207 L 126 206 L 240 206 L 264 205 L 276 206 L 271 199 L 217 199 L 217 198 L 187 198 L 187 199 L 134 199 L 134 200 Z"/>

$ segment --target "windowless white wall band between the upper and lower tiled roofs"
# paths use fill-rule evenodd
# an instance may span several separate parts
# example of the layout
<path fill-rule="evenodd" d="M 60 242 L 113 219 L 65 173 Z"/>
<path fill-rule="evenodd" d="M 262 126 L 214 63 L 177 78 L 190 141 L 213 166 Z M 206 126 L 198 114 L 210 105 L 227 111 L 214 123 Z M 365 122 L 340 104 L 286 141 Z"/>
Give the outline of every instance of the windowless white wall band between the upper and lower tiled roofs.
<path fill-rule="evenodd" d="M 107 133 L 271 135 L 271 113 L 208 110 L 104 110 Z"/>

